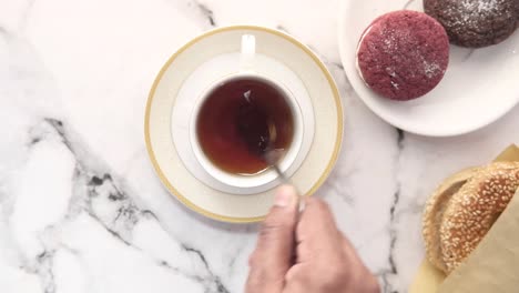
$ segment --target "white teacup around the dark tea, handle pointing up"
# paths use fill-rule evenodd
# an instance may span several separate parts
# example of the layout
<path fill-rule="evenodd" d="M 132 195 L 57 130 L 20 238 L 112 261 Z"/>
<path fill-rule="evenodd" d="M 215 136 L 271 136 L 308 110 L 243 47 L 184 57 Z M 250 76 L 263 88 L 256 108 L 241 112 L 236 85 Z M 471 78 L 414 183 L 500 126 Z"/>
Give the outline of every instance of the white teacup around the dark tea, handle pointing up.
<path fill-rule="evenodd" d="M 278 165 L 287 176 L 293 175 L 312 145 L 312 102 L 297 75 L 279 61 L 256 54 L 255 38 L 250 34 L 242 37 L 241 52 L 220 55 L 205 62 L 184 82 L 177 97 L 179 104 L 174 108 L 172 135 L 184 165 L 201 182 L 226 193 L 254 194 L 281 183 L 275 171 L 266 169 L 251 175 L 228 173 L 205 155 L 196 133 L 201 108 L 210 94 L 223 83 L 243 78 L 269 84 L 283 94 L 289 105 L 294 133 Z"/>

